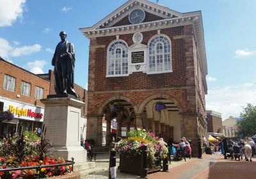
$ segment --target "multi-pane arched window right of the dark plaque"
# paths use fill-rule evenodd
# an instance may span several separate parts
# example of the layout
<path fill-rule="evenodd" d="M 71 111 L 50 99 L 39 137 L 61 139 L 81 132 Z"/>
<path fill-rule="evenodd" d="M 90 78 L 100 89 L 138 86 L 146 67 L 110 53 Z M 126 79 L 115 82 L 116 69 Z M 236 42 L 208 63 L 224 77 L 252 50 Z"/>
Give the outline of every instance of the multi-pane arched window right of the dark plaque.
<path fill-rule="evenodd" d="M 172 53 L 169 38 L 157 35 L 148 42 L 148 73 L 172 72 Z"/>

